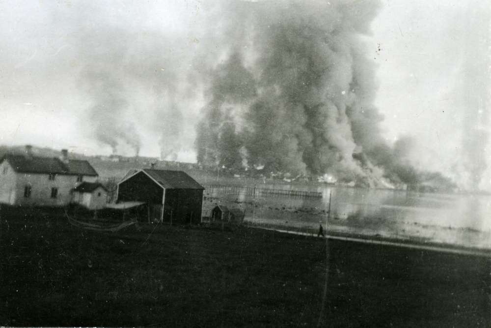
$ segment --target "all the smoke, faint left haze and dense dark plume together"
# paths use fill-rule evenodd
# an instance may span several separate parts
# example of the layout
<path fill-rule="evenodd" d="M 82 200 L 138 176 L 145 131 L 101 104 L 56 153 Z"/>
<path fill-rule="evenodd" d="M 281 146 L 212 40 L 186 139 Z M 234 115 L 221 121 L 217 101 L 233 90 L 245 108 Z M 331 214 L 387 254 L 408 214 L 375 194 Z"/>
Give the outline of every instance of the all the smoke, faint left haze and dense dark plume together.
<path fill-rule="evenodd" d="M 138 153 L 147 128 L 167 160 L 194 140 L 205 165 L 419 183 L 400 145 L 382 138 L 374 106 L 377 67 L 365 41 L 378 8 L 213 1 L 175 30 L 93 30 L 80 80 L 94 134 L 113 151 Z"/>

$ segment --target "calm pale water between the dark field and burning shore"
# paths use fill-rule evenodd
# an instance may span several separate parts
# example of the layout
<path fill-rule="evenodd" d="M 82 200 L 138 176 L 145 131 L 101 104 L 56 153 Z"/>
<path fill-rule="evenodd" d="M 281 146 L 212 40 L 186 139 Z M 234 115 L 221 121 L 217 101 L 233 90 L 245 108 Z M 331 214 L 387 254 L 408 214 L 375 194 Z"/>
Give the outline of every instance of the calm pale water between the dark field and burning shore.
<path fill-rule="evenodd" d="M 231 190 L 205 192 L 207 215 L 217 204 L 246 210 L 246 221 L 316 232 L 418 239 L 468 247 L 491 248 L 491 196 L 430 194 L 349 187 L 299 187 L 264 184 L 261 188 L 322 192 L 322 198 L 256 195 Z"/>

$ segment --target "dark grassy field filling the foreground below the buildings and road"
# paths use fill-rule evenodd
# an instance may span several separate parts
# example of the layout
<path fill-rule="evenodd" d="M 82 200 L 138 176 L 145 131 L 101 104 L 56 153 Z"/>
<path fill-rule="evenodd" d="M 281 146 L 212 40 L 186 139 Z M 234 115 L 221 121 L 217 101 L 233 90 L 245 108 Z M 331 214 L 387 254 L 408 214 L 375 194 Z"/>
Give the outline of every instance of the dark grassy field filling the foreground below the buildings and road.
<path fill-rule="evenodd" d="M 98 232 L 63 212 L 3 210 L 0 326 L 491 327 L 489 257 L 329 241 L 324 305 L 324 246 L 246 227 Z"/>

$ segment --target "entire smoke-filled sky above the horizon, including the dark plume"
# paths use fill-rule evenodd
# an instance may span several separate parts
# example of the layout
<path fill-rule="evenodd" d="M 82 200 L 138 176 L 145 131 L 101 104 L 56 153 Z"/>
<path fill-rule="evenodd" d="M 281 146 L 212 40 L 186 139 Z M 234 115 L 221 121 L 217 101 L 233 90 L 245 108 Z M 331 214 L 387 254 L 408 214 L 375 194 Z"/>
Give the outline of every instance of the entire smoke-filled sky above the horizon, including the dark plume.
<path fill-rule="evenodd" d="M 486 4 L 4 7 L 1 143 L 491 187 Z"/>

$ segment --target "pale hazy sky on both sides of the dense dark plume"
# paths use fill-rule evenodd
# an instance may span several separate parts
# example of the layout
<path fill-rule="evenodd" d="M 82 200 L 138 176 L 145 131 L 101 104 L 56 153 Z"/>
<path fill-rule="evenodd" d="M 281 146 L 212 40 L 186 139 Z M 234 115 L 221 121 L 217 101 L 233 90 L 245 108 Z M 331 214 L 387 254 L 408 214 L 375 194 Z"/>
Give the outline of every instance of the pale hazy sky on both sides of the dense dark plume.
<path fill-rule="evenodd" d="M 202 76 L 246 15 L 245 1 L 228 2 L 0 0 L 0 143 L 195 160 Z M 264 2 L 281 3 L 255 10 Z M 382 135 L 412 138 L 417 167 L 465 179 L 466 165 L 491 160 L 488 1 L 375 3 L 363 51 L 377 64 Z"/>

